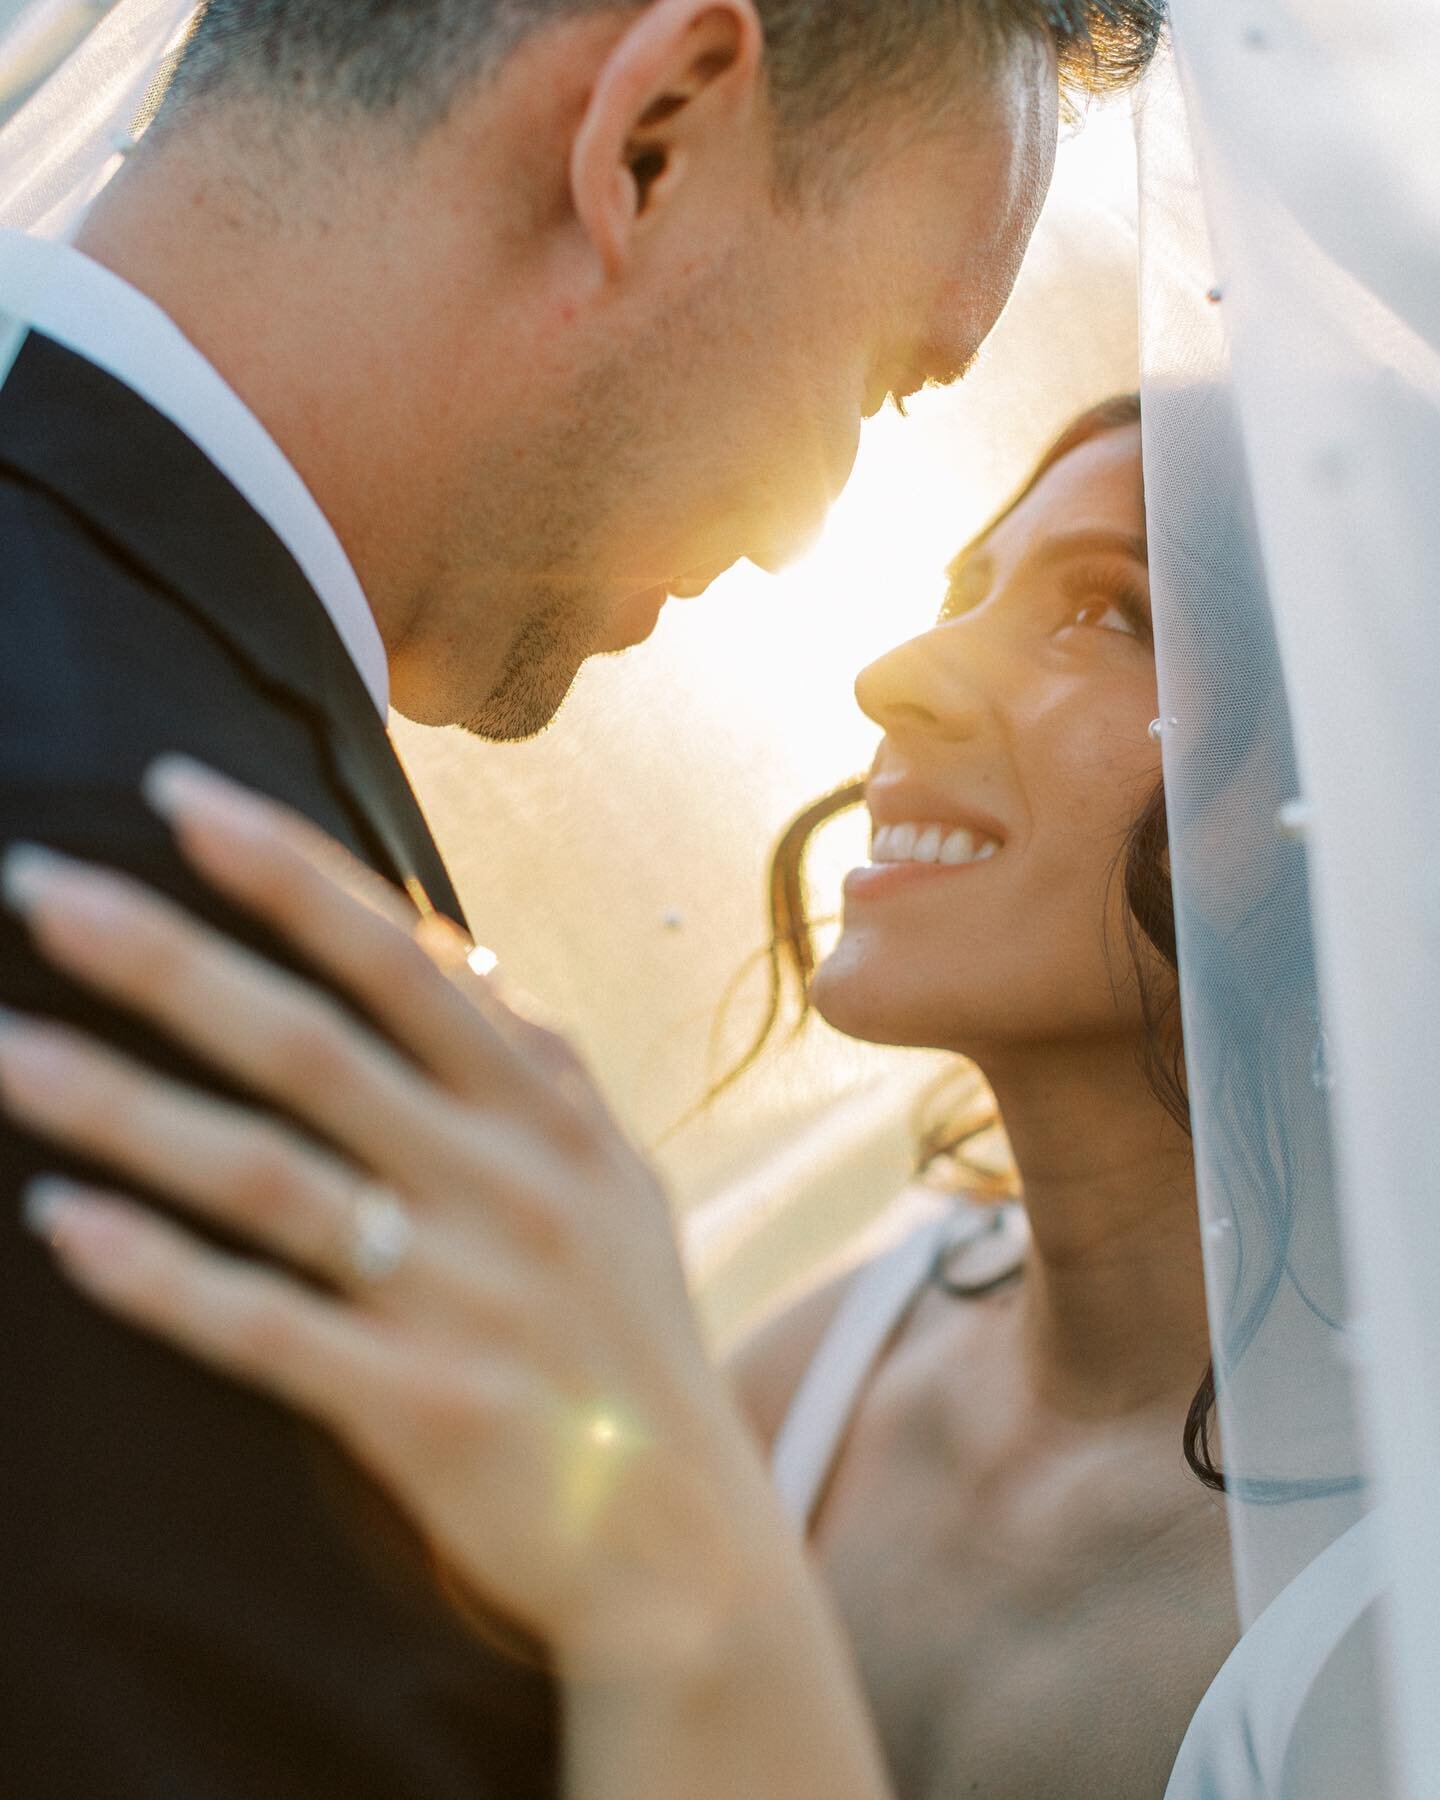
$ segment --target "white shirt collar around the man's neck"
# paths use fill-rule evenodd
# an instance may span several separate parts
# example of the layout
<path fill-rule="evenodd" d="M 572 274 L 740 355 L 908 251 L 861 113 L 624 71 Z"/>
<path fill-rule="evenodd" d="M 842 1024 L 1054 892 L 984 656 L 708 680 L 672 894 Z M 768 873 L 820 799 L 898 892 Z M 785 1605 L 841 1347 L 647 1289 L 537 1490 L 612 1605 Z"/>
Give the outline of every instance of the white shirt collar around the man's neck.
<path fill-rule="evenodd" d="M 18 230 L 0 230 L 0 311 L 124 382 L 214 463 L 295 558 L 385 718 L 385 644 L 335 527 L 270 432 L 175 320 L 72 245 Z"/>

